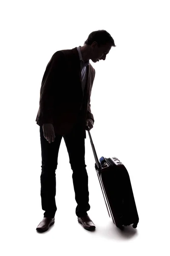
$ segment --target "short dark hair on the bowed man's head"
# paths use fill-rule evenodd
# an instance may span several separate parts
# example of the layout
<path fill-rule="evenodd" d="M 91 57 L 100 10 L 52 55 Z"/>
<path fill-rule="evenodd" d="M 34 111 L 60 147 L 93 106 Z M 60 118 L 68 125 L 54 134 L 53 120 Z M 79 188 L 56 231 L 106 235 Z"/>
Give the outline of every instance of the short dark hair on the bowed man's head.
<path fill-rule="evenodd" d="M 97 42 L 98 47 L 106 44 L 111 44 L 113 47 L 116 46 L 113 38 L 106 30 L 97 30 L 91 32 L 84 44 L 92 45 L 95 41 Z"/>

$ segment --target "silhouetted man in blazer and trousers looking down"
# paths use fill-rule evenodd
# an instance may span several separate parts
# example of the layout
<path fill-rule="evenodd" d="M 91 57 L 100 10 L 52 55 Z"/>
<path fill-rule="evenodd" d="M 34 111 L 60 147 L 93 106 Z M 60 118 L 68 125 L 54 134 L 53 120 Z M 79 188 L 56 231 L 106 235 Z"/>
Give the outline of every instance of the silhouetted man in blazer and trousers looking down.
<path fill-rule="evenodd" d="M 60 50 L 49 61 L 40 88 L 40 107 L 36 122 L 40 126 L 42 152 L 41 203 L 44 218 L 37 231 L 44 232 L 54 224 L 57 211 L 56 174 L 62 137 L 68 150 L 78 222 L 86 230 L 94 230 L 87 211 L 90 209 L 88 174 L 85 165 L 86 130 L 94 125 L 91 113 L 91 89 L 95 70 L 89 63 L 105 60 L 114 40 L 105 30 L 92 32 L 84 46 Z M 69 211 L 69 209 L 68 209 Z"/>

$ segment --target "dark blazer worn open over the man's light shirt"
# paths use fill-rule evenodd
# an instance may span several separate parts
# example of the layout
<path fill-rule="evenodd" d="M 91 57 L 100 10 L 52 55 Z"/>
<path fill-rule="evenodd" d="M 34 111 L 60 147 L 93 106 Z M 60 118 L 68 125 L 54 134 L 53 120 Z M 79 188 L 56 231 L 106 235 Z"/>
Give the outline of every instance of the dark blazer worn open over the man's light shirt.
<path fill-rule="evenodd" d="M 87 81 L 84 97 L 84 125 L 91 113 L 91 89 L 95 70 L 87 66 Z M 37 125 L 52 123 L 55 134 L 64 135 L 71 131 L 77 121 L 82 104 L 82 77 L 77 47 L 54 53 L 48 62 L 40 88 L 40 107 L 37 113 Z M 86 137 L 86 136 L 85 136 Z"/>

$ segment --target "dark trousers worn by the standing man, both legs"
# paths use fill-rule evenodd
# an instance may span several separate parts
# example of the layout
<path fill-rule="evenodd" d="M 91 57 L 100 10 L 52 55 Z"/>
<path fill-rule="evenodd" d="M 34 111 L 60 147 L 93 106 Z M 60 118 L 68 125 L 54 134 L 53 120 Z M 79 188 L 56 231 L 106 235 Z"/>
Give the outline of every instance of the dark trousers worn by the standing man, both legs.
<path fill-rule="evenodd" d="M 90 209 L 88 192 L 88 174 L 85 165 L 85 137 L 83 125 L 77 122 L 69 134 L 63 136 L 69 154 L 71 169 L 73 171 L 73 185 L 75 200 L 77 202 L 76 215 L 81 217 L 87 215 Z M 55 134 L 54 142 L 49 143 L 40 127 L 40 142 L 42 155 L 41 181 L 41 204 L 44 217 L 53 218 L 57 211 L 56 195 L 56 174 L 59 146 L 62 135 Z M 69 212 L 69 209 L 68 209 Z"/>

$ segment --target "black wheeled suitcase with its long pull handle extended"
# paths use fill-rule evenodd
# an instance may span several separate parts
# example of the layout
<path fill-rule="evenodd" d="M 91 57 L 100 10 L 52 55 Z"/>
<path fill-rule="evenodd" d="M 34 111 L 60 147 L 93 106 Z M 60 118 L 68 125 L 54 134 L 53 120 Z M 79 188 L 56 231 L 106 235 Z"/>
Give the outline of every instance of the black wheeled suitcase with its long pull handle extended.
<path fill-rule="evenodd" d="M 139 216 L 127 169 L 116 157 L 101 157 L 98 160 L 89 128 L 87 130 L 96 161 L 95 169 L 108 215 L 112 218 L 116 227 L 121 230 L 123 226 L 130 226 L 131 224 L 133 224 L 133 228 L 136 228 Z"/>

